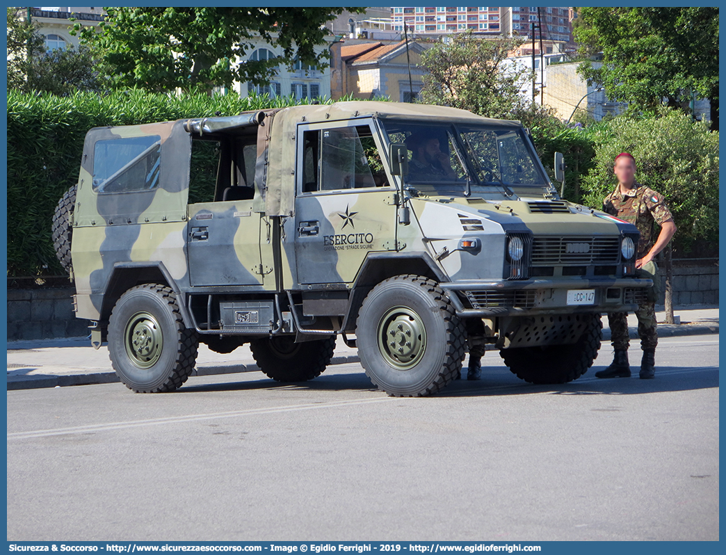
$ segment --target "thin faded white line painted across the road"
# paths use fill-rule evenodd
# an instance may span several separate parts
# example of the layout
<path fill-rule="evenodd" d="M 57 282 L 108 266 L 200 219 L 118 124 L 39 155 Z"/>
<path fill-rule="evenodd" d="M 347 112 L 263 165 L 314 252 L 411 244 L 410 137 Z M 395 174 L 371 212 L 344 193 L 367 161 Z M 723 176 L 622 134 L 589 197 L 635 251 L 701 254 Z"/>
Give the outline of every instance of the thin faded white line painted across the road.
<path fill-rule="evenodd" d="M 188 416 L 171 416 L 167 418 L 149 418 L 147 420 L 135 420 L 125 422 L 110 422 L 108 424 L 91 424 L 89 426 L 70 426 L 49 430 L 33 430 L 31 432 L 12 432 L 7 434 L 7 439 L 30 439 L 33 437 L 50 437 L 66 434 L 83 434 L 89 432 L 104 432 L 106 430 L 118 430 L 126 428 L 138 428 L 141 426 L 156 426 L 158 424 L 175 424 L 177 422 L 195 422 L 203 420 L 214 420 L 216 418 L 235 418 L 237 416 L 255 416 L 258 414 L 288 413 L 296 410 L 311 410 L 318 408 L 347 407 L 351 405 L 367 405 L 374 402 L 386 402 L 401 400 L 400 397 L 376 397 L 375 399 L 361 399 L 351 401 L 312 402 L 305 405 L 288 405 L 285 407 L 253 408 L 248 410 L 234 410 L 224 413 L 192 414 Z"/>

